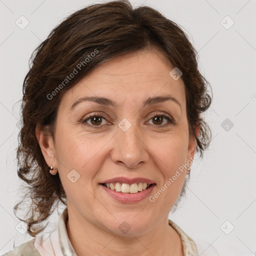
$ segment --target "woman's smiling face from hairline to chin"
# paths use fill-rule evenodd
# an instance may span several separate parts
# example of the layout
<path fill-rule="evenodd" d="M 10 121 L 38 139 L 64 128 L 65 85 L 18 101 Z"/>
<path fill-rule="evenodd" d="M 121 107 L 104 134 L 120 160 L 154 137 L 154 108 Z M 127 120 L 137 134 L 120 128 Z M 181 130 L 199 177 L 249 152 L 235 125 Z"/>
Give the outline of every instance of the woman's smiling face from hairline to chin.
<path fill-rule="evenodd" d="M 179 167 L 191 163 L 196 146 L 188 135 L 182 76 L 174 79 L 172 69 L 161 51 L 143 50 L 101 64 L 63 95 L 55 158 L 44 156 L 58 169 L 67 207 L 77 218 L 112 233 L 137 235 L 168 217 L 188 173 L 189 166 Z M 167 96 L 174 99 L 158 98 Z M 113 178 L 119 188 L 125 182 L 150 183 L 143 178 L 154 184 L 149 192 L 114 192 L 102 185 Z M 122 225 L 130 228 L 126 234 Z"/>

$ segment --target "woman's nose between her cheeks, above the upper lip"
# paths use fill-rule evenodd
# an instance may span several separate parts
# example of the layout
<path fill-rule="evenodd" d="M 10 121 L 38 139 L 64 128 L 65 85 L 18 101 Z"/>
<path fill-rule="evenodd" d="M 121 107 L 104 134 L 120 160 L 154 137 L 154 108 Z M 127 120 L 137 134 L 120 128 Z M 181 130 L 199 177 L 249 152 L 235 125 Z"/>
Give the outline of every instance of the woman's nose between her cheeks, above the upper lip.
<path fill-rule="evenodd" d="M 112 161 L 127 168 L 138 168 L 149 159 L 149 148 L 144 140 L 136 125 L 132 124 L 126 131 L 118 127 L 113 137 Z"/>

